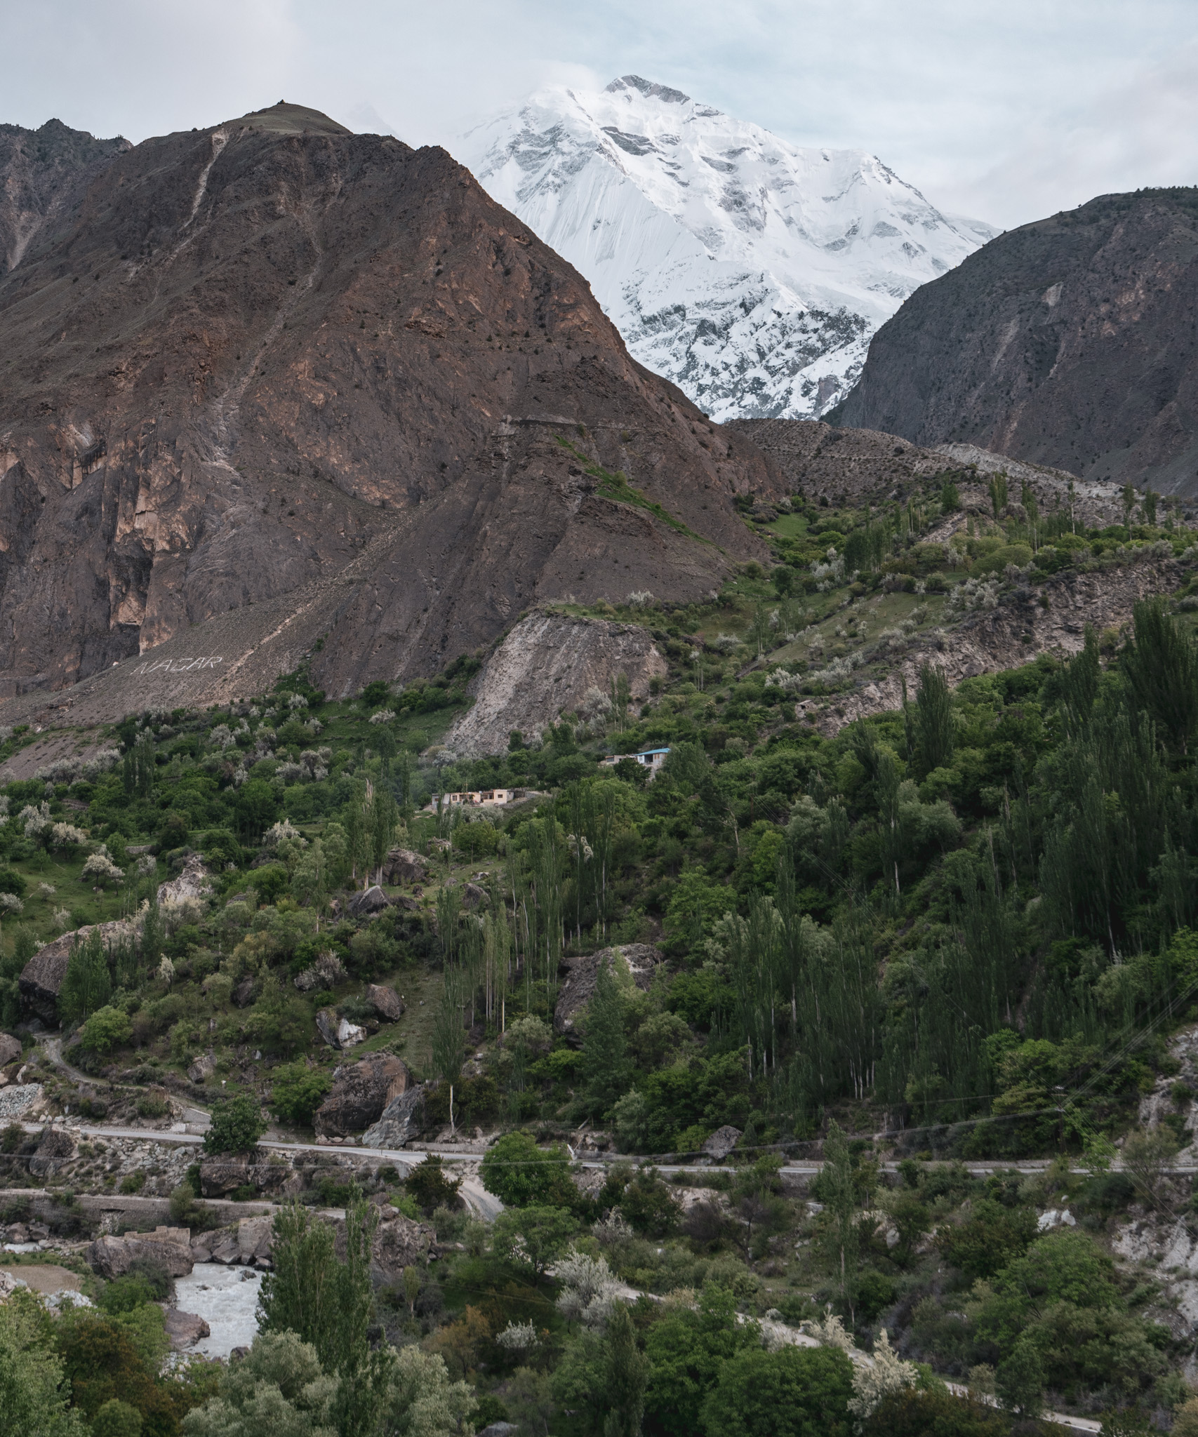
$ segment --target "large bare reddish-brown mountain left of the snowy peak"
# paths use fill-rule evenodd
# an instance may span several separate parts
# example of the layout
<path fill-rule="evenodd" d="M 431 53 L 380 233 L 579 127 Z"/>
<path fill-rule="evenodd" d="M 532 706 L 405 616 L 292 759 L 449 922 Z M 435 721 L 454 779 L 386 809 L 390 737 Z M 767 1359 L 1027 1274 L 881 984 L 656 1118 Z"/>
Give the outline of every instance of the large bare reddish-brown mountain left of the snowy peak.
<path fill-rule="evenodd" d="M 444 151 L 289 105 L 114 155 L 0 277 L 0 476 L 7 696 L 197 624 L 427 674 L 541 599 L 708 592 L 782 487 Z"/>

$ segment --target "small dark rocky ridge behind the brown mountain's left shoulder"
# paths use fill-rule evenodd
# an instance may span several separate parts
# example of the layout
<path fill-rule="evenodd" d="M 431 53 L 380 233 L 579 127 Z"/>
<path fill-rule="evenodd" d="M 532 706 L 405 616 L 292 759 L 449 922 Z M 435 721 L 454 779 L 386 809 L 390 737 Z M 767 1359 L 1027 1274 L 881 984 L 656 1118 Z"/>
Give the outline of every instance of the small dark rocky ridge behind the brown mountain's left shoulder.
<path fill-rule="evenodd" d="M 96 139 L 47 119 L 40 129 L 0 125 L 0 274 L 68 226 L 91 180 L 128 139 Z"/>

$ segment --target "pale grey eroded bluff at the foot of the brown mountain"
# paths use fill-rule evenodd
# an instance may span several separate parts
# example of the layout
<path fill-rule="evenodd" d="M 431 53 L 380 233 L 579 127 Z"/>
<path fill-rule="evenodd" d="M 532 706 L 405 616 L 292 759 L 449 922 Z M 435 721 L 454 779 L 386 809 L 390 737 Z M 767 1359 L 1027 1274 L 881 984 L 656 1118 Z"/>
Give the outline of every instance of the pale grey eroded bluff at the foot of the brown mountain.
<path fill-rule="evenodd" d="M 502 753 L 513 729 L 531 737 L 565 710 L 590 714 L 607 703 L 620 674 L 628 680 L 631 701 L 644 703 L 649 681 L 666 667 L 651 635 L 633 624 L 529 614 L 483 664 L 470 684 L 475 707 L 454 723 L 446 743 L 462 753 Z"/>

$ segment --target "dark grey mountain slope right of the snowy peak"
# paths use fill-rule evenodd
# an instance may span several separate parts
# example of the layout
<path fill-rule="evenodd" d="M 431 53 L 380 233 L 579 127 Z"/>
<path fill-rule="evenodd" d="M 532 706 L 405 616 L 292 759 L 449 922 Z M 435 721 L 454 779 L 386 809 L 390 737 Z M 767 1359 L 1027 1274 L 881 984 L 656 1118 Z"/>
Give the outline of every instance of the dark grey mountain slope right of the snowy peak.
<path fill-rule="evenodd" d="M 1198 494 L 1198 190 L 991 240 L 874 335 L 838 422 Z"/>

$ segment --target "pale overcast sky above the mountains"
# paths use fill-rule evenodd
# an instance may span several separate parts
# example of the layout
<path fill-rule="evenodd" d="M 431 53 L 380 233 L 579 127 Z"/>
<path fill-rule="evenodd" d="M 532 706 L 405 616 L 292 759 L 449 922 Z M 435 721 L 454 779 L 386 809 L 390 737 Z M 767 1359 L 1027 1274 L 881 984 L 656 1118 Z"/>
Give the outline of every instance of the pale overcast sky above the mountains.
<path fill-rule="evenodd" d="M 545 83 L 673 85 L 869 149 L 1014 226 L 1198 182 L 1195 0 L 37 0 L 4 7 L 0 121 L 129 139 L 278 99 L 444 144 Z"/>

